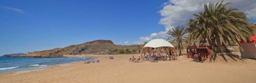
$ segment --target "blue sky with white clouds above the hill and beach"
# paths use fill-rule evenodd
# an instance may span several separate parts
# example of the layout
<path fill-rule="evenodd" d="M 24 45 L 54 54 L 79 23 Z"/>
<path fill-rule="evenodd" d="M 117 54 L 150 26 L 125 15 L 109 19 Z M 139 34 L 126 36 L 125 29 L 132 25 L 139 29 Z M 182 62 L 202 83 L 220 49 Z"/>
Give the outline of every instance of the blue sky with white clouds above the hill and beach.
<path fill-rule="evenodd" d="M 0 55 L 107 39 L 118 45 L 171 37 L 203 4 L 217 0 L 0 0 Z M 232 1 L 256 23 L 256 1 Z"/>

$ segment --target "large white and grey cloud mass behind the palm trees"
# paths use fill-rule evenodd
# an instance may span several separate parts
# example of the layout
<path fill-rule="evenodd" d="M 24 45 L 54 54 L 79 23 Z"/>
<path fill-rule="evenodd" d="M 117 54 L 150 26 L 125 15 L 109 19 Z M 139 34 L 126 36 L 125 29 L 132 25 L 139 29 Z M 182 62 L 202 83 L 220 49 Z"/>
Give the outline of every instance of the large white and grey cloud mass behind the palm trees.
<path fill-rule="evenodd" d="M 203 11 L 205 3 L 216 3 L 219 0 L 169 0 L 163 3 L 163 8 L 159 11 L 161 19 L 159 24 L 165 27 L 164 31 L 152 33 L 150 36 L 140 37 L 134 44 L 143 44 L 155 38 L 167 39 L 170 37 L 166 32 L 177 26 L 186 27 L 190 19 L 194 19 L 193 14 Z M 232 2 L 228 7 L 238 8 L 245 12 L 249 19 L 256 19 L 256 1 L 255 0 L 224 0 Z"/>

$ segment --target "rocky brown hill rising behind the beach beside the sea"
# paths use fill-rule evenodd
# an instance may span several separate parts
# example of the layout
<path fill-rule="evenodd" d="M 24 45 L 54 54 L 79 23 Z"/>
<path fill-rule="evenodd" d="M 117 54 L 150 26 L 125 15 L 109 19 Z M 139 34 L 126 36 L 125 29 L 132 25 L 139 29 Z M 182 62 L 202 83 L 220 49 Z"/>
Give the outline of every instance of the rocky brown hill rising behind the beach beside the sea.
<path fill-rule="evenodd" d="M 70 45 L 64 48 L 29 52 L 22 56 L 33 57 L 62 57 L 63 55 L 105 55 L 105 54 L 131 54 L 139 53 L 142 45 L 115 45 L 111 40 L 95 40 L 78 45 Z"/>

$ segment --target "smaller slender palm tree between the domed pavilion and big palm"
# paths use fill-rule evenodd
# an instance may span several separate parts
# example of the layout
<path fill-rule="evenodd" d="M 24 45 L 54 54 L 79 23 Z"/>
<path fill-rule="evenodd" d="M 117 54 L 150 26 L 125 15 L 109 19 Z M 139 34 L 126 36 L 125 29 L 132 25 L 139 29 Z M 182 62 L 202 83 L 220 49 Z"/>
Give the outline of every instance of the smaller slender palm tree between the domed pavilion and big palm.
<path fill-rule="evenodd" d="M 184 34 L 186 34 L 185 28 L 183 26 L 181 26 L 181 27 L 178 26 L 178 27 L 172 28 L 172 30 L 169 29 L 167 34 L 169 34 L 175 38 L 174 40 L 176 40 L 177 44 L 178 44 L 177 49 L 179 49 L 179 51 L 180 51 L 179 55 L 181 55 L 181 46 L 182 46 L 182 42 L 183 42 L 182 37 Z"/>

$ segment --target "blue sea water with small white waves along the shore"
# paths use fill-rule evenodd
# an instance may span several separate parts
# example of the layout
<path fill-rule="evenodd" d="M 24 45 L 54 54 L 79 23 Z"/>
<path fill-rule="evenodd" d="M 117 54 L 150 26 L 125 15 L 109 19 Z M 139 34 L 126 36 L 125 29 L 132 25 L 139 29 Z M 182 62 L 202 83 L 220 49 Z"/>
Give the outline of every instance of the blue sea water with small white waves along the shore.
<path fill-rule="evenodd" d="M 0 56 L 0 73 L 42 69 L 57 64 L 77 62 L 92 57 L 56 57 L 56 58 L 34 58 L 34 57 L 3 57 Z"/>

